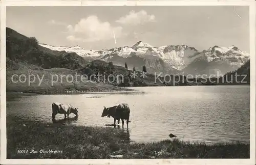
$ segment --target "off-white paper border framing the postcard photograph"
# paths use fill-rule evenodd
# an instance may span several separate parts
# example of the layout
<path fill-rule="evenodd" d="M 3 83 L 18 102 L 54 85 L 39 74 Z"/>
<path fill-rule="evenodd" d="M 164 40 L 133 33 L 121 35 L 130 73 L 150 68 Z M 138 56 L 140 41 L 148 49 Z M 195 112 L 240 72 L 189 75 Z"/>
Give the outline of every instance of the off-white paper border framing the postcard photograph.
<path fill-rule="evenodd" d="M 1 1 L 1 164 L 255 164 L 255 1 Z M 249 6 L 249 159 L 6 159 L 6 7 L 9 6 Z"/>

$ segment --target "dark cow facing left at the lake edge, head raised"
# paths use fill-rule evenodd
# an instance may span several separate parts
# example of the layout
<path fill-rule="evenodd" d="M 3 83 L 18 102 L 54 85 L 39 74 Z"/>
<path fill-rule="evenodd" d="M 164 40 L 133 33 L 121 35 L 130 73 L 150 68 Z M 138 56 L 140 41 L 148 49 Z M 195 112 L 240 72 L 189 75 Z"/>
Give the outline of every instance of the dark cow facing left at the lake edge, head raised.
<path fill-rule="evenodd" d="M 129 105 L 125 103 L 108 107 L 108 108 L 104 106 L 101 117 L 103 118 L 105 116 L 108 116 L 108 117 L 112 116 L 114 118 L 114 127 L 116 127 L 116 120 L 118 124 L 120 122 L 120 119 L 122 120 L 122 128 L 123 128 L 124 120 L 126 120 L 127 129 L 128 129 L 128 123 L 131 122 L 129 121 L 130 108 L 129 108 Z"/>

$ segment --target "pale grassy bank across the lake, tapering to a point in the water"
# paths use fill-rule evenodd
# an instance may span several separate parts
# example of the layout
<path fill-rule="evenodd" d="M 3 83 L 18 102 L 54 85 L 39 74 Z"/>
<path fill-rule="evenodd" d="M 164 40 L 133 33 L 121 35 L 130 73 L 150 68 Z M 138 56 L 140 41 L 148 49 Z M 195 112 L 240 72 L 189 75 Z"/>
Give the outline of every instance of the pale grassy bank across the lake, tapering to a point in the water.
<path fill-rule="evenodd" d="M 77 74 L 81 75 L 81 73 Z M 13 75 L 15 76 L 12 80 Z M 22 76 L 19 80 L 17 75 L 24 76 Z M 29 75 L 35 76 L 35 78 L 30 78 L 31 82 L 29 82 L 28 80 Z M 131 89 L 116 87 L 109 84 L 97 83 L 94 81 L 88 81 L 83 83 L 79 79 L 79 76 L 77 78 L 78 82 L 71 81 L 71 79 L 67 79 L 65 77 L 67 75 L 72 75 L 73 77 L 76 77 L 76 71 L 65 68 L 52 68 L 44 70 L 23 69 L 18 71 L 9 70 L 6 72 L 6 91 L 37 94 L 132 91 Z M 64 77 L 61 78 L 61 76 Z"/>

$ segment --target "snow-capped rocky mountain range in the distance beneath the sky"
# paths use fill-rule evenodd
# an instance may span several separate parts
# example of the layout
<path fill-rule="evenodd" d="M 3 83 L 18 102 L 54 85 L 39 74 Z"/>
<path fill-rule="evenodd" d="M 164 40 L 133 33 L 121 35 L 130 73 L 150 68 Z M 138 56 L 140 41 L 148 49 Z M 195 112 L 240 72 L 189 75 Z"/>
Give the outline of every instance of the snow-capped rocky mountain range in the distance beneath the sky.
<path fill-rule="evenodd" d="M 237 70 L 245 64 L 250 56 L 245 51 L 232 45 L 228 47 L 214 46 L 203 51 L 187 45 L 164 45 L 154 47 L 139 41 L 133 46 L 124 46 L 112 49 L 86 50 L 80 46 L 51 46 L 39 43 L 40 46 L 51 50 L 75 52 L 88 61 L 102 60 L 113 62 L 114 65 L 124 66 L 129 69 L 135 67 L 142 71 L 143 65 L 147 72 L 154 74 L 184 74 L 207 76 L 224 75 Z"/>

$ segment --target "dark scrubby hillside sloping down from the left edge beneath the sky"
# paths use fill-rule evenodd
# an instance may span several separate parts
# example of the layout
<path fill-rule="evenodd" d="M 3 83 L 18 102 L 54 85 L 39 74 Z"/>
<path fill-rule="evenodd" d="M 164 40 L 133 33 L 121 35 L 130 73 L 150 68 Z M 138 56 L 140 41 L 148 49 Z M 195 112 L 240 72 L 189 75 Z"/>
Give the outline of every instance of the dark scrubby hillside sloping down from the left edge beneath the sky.
<path fill-rule="evenodd" d="M 26 37 L 10 28 L 6 28 L 6 57 L 8 70 L 18 70 L 26 65 L 44 69 L 79 69 L 88 64 L 76 53 L 53 51 L 42 47 L 38 45 L 36 38 Z"/>

